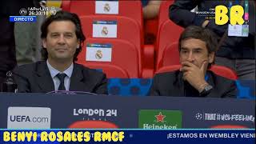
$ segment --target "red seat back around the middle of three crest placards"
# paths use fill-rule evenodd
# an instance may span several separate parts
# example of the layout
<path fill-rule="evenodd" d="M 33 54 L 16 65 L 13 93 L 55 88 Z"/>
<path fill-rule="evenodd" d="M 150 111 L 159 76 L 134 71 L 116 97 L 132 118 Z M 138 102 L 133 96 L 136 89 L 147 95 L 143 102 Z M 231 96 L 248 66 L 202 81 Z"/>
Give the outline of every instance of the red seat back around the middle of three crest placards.
<path fill-rule="evenodd" d="M 138 24 L 130 18 L 122 17 L 122 16 L 101 16 L 101 15 L 91 15 L 91 16 L 82 16 L 82 30 L 86 35 L 86 38 L 92 38 L 93 35 L 93 22 L 94 21 L 117 21 L 118 22 L 118 30 L 117 37 L 118 39 L 122 39 L 134 44 L 135 48 L 138 51 L 138 66 L 139 66 L 139 74 L 142 73 L 142 32 L 138 26 Z M 116 39 L 116 38 L 95 38 L 95 39 Z M 100 42 L 100 41 L 99 41 Z M 120 49 L 123 49 L 120 46 Z M 120 53 L 121 54 L 121 53 Z M 128 58 L 130 59 L 130 58 Z M 126 59 L 126 61 L 128 60 Z M 130 69 L 129 69 L 130 70 Z M 137 74 L 136 74 L 137 75 Z M 133 75 L 132 77 L 138 78 L 138 76 Z"/>

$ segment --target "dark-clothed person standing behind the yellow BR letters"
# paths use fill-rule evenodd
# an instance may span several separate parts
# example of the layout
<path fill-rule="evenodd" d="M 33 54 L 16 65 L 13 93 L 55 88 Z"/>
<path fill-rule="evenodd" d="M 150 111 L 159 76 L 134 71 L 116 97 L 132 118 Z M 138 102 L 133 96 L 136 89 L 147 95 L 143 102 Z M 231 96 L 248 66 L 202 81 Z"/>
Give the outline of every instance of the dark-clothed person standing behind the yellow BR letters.
<path fill-rule="evenodd" d="M 248 4 L 246 5 L 246 2 Z M 198 12 L 210 12 L 215 6 L 224 5 L 226 7 L 241 5 L 247 6 L 249 14 L 249 36 L 234 37 L 227 33 L 228 23 L 226 25 L 216 25 L 214 16 L 206 14 L 196 14 L 190 12 L 198 6 Z M 176 0 L 170 6 L 170 19 L 182 27 L 191 25 L 207 27 L 218 34 L 223 41 L 219 43 L 219 49 L 215 63 L 222 66 L 228 66 L 235 70 L 240 80 L 255 79 L 255 2 L 250 0 L 242 1 L 196 1 L 196 0 Z"/>

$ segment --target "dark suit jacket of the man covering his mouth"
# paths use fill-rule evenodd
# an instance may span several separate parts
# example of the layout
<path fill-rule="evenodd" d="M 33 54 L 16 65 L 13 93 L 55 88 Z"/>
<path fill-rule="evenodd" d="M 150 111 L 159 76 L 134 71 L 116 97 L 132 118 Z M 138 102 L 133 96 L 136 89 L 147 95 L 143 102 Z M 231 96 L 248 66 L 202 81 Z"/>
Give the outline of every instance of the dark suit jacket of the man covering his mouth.
<path fill-rule="evenodd" d="M 209 98 L 236 98 L 237 89 L 235 82 L 214 74 L 211 71 L 206 72 L 207 82 L 214 88 L 210 94 L 200 95 L 198 90 L 190 86 L 188 82 L 182 79 L 182 72 L 166 72 L 156 74 L 154 82 L 150 89 L 150 95 L 174 96 L 174 97 L 209 97 Z"/>

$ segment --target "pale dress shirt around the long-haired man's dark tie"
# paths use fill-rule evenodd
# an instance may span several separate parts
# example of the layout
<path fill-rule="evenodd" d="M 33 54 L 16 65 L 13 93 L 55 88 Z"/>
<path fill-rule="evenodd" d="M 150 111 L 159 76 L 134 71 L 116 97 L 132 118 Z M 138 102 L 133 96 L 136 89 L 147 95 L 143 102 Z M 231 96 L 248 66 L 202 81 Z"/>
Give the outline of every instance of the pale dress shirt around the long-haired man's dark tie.
<path fill-rule="evenodd" d="M 64 70 L 63 72 L 60 72 L 56 69 L 54 69 L 53 66 L 50 66 L 50 63 L 48 62 L 48 60 L 46 61 L 47 63 L 47 66 L 48 66 L 48 69 L 50 70 L 50 76 L 51 78 L 53 78 L 53 81 L 54 81 L 54 89 L 55 90 L 58 90 L 58 86 L 61 84 L 60 80 L 57 78 L 57 74 L 58 73 L 64 73 L 66 74 L 66 77 L 64 79 L 64 86 L 66 88 L 66 90 L 70 90 L 70 78 L 71 78 L 71 75 L 73 73 L 73 68 L 74 68 L 74 64 L 72 62 L 72 64 L 70 65 L 69 68 L 67 68 L 66 70 Z"/>

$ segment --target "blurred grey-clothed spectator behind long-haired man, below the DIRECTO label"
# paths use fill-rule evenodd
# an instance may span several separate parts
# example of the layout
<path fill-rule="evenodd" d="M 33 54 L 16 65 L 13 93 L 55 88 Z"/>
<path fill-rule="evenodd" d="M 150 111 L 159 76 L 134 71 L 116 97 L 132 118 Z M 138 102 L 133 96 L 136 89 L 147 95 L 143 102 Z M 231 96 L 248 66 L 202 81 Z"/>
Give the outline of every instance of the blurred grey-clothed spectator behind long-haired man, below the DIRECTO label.
<path fill-rule="evenodd" d="M 34 2 L 34 7 L 45 8 L 46 1 Z M 27 7 L 23 8 L 27 9 Z M 18 65 L 37 62 L 41 58 L 40 26 L 46 18 L 46 9 L 41 12 L 36 15 L 37 22 L 15 22 L 14 37 Z"/>

